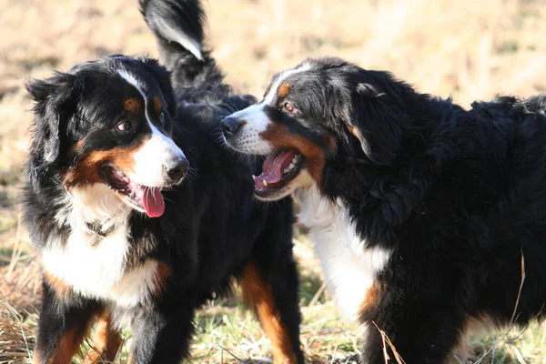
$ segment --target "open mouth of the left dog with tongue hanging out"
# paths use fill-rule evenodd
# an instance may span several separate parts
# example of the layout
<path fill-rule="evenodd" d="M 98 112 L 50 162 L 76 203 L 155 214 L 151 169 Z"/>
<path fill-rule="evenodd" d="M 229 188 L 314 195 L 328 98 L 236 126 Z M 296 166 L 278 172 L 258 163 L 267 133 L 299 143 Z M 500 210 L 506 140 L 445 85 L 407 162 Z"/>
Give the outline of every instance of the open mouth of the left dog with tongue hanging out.
<path fill-rule="evenodd" d="M 130 204 L 137 209 L 146 211 L 148 217 L 160 217 L 165 212 L 165 200 L 160 187 L 139 185 L 110 164 L 101 167 L 101 177 L 106 186 L 127 197 Z"/>

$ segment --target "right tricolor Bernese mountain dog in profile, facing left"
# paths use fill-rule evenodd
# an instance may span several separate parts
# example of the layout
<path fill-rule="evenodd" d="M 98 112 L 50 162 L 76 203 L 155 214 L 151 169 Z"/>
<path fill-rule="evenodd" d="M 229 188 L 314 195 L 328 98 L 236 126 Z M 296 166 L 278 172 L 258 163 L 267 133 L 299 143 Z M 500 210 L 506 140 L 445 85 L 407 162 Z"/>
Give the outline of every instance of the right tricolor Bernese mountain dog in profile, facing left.
<path fill-rule="evenodd" d="M 330 290 L 366 327 L 362 362 L 385 362 L 381 329 L 406 363 L 439 363 L 470 323 L 543 316 L 545 110 L 546 96 L 465 110 L 322 58 L 222 124 L 231 147 L 268 155 L 258 197 L 299 200 Z"/>

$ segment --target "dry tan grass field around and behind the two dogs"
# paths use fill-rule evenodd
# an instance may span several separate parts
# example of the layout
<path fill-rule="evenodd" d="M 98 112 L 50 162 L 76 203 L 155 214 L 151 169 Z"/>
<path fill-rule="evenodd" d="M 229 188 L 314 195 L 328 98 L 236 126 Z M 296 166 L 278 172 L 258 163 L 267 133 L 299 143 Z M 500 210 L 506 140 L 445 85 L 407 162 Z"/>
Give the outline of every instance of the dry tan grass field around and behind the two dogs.
<path fill-rule="evenodd" d="M 387 69 L 420 91 L 469 106 L 546 90 L 546 2 L 532 0 L 205 0 L 207 44 L 236 90 L 261 96 L 269 77 L 306 56 Z M 114 53 L 157 55 L 136 0 L 0 0 L 0 364 L 29 362 L 39 263 L 20 223 L 29 142 L 25 79 Z M 340 319 L 310 242 L 297 234 L 302 342 L 308 362 L 343 363 L 359 329 Z M 191 362 L 258 362 L 269 343 L 238 299 L 197 317 Z M 126 347 L 130 338 L 126 336 Z M 546 324 L 470 339 L 453 363 L 546 363 Z M 247 361 L 246 361 L 247 360 Z M 250 361 L 248 361 L 250 360 Z M 126 361 L 126 349 L 116 362 Z M 76 362 L 79 362 L 76 360 Z"/>

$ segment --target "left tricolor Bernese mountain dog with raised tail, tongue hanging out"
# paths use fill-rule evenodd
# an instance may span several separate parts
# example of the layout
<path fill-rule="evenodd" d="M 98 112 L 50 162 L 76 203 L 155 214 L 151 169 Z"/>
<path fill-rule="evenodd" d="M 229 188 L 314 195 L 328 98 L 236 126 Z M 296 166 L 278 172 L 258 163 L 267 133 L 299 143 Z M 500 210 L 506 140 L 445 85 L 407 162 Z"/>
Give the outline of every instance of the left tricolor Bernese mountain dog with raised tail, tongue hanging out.
<path fill-rule="evenodd" d="M 187 358 L 195 310 L 238 279 L 276 363 L 302 363 L 289 198 L 255 201 L 254 162 L 219 121 L 250 105 L 201 52 L 197 1 L 142 3 L 169 73 L 108 56 L 33 81 L 25 221 L 44 267 L 34 362 L 68 364 L 96 322 L 86 363 Z M 197 101 L 202 102 L 197 102 Z M 177 116 L 176 116 L 177 115 Z"/>

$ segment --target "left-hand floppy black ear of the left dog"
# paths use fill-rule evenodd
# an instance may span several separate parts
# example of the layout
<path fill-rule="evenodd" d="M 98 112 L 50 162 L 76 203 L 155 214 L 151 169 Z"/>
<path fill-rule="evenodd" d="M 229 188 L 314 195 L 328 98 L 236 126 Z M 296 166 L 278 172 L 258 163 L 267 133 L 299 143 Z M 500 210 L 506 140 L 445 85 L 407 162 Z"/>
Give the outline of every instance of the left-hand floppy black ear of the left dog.
<path fill-rule="evenodd" d="M 63 139 L 61 124 L 67 116 L 66 103 L 75 89 L 75 76 L 56 73 L 45 80 L 32 80 L 26 83 L 28 96 L 35 101 L 35 138 L 43 142 L 45 163 L 53 163 L 59 156 Z"/>

